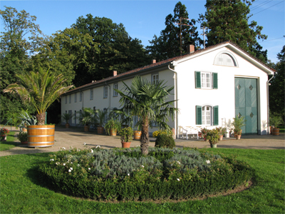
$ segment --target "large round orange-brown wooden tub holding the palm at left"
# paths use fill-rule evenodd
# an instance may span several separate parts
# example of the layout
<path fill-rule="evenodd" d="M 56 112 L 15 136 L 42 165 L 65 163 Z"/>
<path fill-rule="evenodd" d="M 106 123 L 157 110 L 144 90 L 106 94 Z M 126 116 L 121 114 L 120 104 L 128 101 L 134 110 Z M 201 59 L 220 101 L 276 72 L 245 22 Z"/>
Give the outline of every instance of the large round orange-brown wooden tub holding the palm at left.
<path fill-rule="evenodd" d="M 28 126 L 28 147 L 54 145 L 54 125 Z"/>

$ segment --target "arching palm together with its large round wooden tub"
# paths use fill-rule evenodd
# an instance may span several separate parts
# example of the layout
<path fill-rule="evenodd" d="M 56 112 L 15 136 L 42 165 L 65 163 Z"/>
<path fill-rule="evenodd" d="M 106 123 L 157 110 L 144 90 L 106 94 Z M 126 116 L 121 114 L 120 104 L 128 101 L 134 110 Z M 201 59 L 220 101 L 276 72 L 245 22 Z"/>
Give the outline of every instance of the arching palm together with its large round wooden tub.
<path fill-rule="evenodd" d="M 4 89 L 6 93 L 17 93 L 20 98 L 36 108 L 37 126 L 28 126 L 28 147 L 46 147 L 54 145 L 54 125 L 45 126 L 46 110 L 61 94 L 73 86 L 64 86 L 66 79 L 62 74 L 51 71 L 31 71 L 16 74 L 18 81 Z"/>

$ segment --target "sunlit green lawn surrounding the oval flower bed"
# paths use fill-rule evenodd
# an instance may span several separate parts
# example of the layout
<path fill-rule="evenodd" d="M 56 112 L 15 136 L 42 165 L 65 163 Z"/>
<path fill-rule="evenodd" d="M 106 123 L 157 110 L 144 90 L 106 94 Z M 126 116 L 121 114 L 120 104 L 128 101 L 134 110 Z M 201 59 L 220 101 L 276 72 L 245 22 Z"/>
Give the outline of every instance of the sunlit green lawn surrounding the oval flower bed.
<path fill-rule="evenodd" d="M 0 157 L 1 213 L 285 213 L 284 150 L 207 149 L 237 156 L 256 170 L 254 185 L 240 193 L 185 202 L 100 203 L 48 190 L 38 164 L 48 153 Z"/>

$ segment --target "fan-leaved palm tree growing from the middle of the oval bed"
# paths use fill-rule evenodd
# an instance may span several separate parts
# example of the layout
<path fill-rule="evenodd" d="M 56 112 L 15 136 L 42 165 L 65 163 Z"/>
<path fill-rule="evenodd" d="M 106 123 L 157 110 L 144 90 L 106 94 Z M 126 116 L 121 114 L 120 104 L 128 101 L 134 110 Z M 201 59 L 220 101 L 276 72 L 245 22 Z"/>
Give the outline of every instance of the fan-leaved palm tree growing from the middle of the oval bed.
<path fill-rule="evenodd" d="M 140 149 L 143 155 L 148 153 L 149 145 L 149 126 L 152 128 L 154 121 L 162 130 L 171 131 L 167 124 L 169 117 L 174 120 L 175 111 L 173 103 L 175 101 L 166 101 L 170 91 L 174 87 L 165 86 L 164 81 L 151 83 L 145 78 L 135 76 L 131 86 L 124 82 L 123 92 L 115 89 L 120 93 L 120 109 L 125 115 L 138 116 L 138 123 L 142 127 L 142 136 L 140 138 Z M 118 113 L 120 111 L 117 111 Z"/>

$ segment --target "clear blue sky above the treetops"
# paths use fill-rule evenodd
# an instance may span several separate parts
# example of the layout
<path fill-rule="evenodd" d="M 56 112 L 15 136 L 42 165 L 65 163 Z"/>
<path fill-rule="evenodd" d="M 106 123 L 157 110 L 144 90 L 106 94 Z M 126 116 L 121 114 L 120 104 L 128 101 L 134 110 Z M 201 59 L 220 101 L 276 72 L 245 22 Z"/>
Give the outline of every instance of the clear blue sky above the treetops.
<path fill-rule="evenodd" d="M 149 40 L 154 35 L 159 36 L 165 29 L 165 17 L 173 14 L 177 1 L 1 1 L 0 9 L 11 6 L 18 11 L 25 10 L 30 15 L 36 16 L 36 24 L 46 35 L 69 28 L 76 23 L 79 16 L 92 14 L 93 16 L 106 17 L 113 22 L 125 26 L 132 38 L 138 38 L 144 46 L 149 45 Z M 181 1 L 187 7 L 190 19 L 198 19 L 199 14 L 204 14 L 206 0 Z M 250 21 L 257 21 L 263 26 L 262 34 L 266 34 L 266 41 L 259 41 L 264 49 L 268 50 L 268 58 L 278 61 L 278 54 L 285 44 L 285 1 L 284 0 L 257 0 L 251 6 L 253 16 Z M 197 24 L 199 29 L 199 24 Z M 1 31 L 3 24 L 1 21 Z M 199 30 L 202 34 L 202 30 Z"/>

